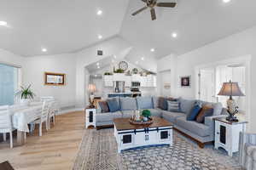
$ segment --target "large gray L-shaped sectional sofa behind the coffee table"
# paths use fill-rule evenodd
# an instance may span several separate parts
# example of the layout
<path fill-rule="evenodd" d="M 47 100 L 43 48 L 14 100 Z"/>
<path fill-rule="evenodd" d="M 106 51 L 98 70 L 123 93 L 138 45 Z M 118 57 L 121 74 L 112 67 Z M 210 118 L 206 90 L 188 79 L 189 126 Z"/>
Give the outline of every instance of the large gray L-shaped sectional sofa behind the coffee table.
<path fill-rule="evenodd" d="M 158 108 L 157 97 L 117 98 L 117 100 L 119 101 L 120 111 L 102 113 L 100 105 L 97 105 L 97 129 L 101 129 L 102 127 L 113 127 L 114 118 L 131 117 L 133 115 L 133 111 L 137 109 L 148 109 L 151 111 L 152 116 L 160 116 L 165 118 L 167 121 L 172 122 L 174 128 L 178 132 L 194 139 L 197 144 L 203 148 L 204 144 L 214 140 L 213 118 L 224 116 L 222 115 L 223 107 L 220 103 L 207 103 L 198 100 L 179 99 L 180 112 L 172 112 Z M 191 111 L 195 102 L 201 102 L 201 105 L 212 105 L 213 116 L 205 117 L 204 123 L 186 120 L 187 114 L 189 114 L 189 111 Z"/>

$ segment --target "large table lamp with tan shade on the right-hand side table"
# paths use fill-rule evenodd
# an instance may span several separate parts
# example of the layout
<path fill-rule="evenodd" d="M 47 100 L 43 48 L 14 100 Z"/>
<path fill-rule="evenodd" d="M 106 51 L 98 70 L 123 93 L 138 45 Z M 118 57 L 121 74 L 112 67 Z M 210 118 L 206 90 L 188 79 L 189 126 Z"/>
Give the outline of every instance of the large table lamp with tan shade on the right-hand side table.
<path fill-rule="evenodd" d="M 230 122 L 238 122 L 235 116 L 236 113 L 238 113 L 238 106 L 236 106 L 236 101 L 232 98 L 232 96 L 244 96 L 238 86 L 238 82 L 224 82 L 218 95 L 230 96 L 230 99 L 227 100 L 228 112 L 230 116 L 226 117 L 226 120 Z"/>

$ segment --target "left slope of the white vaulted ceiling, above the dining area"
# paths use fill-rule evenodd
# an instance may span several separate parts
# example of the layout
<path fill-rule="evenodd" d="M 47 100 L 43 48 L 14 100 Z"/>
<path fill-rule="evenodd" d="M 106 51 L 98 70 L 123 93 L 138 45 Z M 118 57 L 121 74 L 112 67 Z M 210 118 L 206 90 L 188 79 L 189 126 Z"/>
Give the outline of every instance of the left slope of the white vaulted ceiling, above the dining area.
<path fill-rule="evenodd" d="M 111 3 L 110 3 L 111 2 Z M 86 48 L 119 33 L 129 0 L 0 0 L 0 48 L 34 56 Z M 102 15 L 97 11 L 102 10 Z M 102 35 L 102 39 L 98 39 Z M 48 52 L 43 53 L 42 48 Z"/>

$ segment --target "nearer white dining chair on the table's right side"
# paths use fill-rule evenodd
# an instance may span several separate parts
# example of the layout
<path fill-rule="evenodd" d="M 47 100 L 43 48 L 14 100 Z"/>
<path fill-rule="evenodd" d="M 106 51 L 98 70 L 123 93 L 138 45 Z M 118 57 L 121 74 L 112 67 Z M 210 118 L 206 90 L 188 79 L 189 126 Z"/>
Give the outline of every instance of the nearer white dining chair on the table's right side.
<path fill-rule="evenodd" d="M 42 136 L 43 134 L 42 128 L 43 128 L 44 122 L 45 122 L 46 130 L 47 131 L 49 130 L 48 114 L 49 114 L 49 102 L 44 101 L 40 118 L 38 118 L 33 122 L 34 124 L 39 124 L 39 136 Z"/>

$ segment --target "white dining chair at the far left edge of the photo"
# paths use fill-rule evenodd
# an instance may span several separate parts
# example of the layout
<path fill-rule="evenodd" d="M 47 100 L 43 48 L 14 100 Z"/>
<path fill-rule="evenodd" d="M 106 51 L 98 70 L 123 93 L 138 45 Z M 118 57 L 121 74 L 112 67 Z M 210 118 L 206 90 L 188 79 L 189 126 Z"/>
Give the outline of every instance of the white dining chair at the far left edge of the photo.
<path fill-rule="evenodd" d="M 13 148 L 12 120 L 9 112 L 9 105 L 0 106 L 0 133 L 3 133 L 3 141 L 6 141 L 6 133 L 9 133 L 10 148 Z"/>

